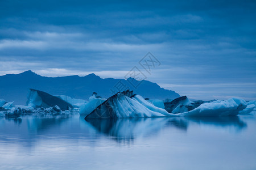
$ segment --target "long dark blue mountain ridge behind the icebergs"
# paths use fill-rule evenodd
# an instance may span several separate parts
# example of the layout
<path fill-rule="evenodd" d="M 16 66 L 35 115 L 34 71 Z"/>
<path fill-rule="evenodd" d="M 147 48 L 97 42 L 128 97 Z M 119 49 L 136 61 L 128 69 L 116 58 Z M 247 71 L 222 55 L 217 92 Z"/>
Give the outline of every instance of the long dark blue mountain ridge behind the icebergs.
<path fill-rule="evenodd" d="M 140 84 L 137 88 L 131 86 Z M 0 99 L 15 101 L 15 104 L 26 104 L 27 95 L 30 88 L 47 92 L 51 95 L 67 95 L 76 99 L 88 100 L 93 92 L 97 92 L 102 97 L 110 97 L 122 89 L 125 84 L 135 94 L 142 95 L 149 99 L 175 99 L 180 95 L 171 90 L 165 90 L 156 83 L 142 80 L 138 82 L 133 78 L 125 79 L 102 79 L 95 74 L 86 76 L 61 76 L 47 77 L 38 75 L 30 70 L 20 74 L 6 74 L 0 76 Z M 137 86 L 137 85 L 136 85 Z M 125 90 L 125 89 L 123 89 Z"/>

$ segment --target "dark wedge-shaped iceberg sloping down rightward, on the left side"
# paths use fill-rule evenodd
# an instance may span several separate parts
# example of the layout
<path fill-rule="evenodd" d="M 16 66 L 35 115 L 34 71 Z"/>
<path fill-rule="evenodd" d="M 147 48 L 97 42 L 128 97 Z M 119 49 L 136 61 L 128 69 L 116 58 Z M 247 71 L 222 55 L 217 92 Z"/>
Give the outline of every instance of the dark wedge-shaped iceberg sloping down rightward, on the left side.
<path fill-rule="evenodd" d="M 72 109 L 73 106 L 67 101 L 60 99 L 59 97 L 52 96 L 46 92 L 30 89 L 30 92 L 27 96 L 27 106 L 32 108 L 49 108 L 57 105 L 60 107 L 61 111 Z"/>

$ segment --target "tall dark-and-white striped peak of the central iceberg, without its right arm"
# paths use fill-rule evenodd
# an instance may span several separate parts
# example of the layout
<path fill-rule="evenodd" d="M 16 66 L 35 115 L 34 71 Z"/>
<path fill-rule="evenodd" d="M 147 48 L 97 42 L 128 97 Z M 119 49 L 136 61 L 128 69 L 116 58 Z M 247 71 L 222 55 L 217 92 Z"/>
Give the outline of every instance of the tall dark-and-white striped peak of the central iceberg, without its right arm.
<path fill-rule="evenodd" d="M 98 105 L 85 119 L 89 118 L 133 118 L 133 117 L 164 117 L 171 116 L 162 108 L 144 100 L 142 96 L 134 95 L 133 91 L 123 91 L 109 97 Z"/>

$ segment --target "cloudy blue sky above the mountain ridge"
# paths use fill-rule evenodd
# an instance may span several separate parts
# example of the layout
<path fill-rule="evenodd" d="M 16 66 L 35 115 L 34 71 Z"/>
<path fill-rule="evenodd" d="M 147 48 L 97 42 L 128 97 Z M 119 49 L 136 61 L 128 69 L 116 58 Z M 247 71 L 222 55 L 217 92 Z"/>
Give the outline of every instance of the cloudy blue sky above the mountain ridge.
<path fill-rule="evenodd" d="M 0 75 L 147 80 L 192 99 L 256 99 L 256 1 L 0 1 Z M 150 73 L 139 64 L 158 59 Z"/>

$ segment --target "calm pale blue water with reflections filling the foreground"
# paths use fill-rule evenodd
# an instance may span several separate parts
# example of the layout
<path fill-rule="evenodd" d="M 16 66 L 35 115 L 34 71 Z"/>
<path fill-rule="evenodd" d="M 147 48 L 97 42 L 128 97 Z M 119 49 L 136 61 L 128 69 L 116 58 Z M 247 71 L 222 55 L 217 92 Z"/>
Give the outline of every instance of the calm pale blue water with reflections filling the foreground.
<path fill-rule="evenodd" d="M 0 169 L 256 169 L 256 118 L 1 118 Z"/>

